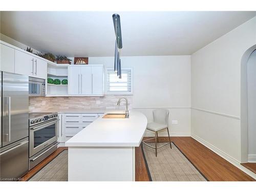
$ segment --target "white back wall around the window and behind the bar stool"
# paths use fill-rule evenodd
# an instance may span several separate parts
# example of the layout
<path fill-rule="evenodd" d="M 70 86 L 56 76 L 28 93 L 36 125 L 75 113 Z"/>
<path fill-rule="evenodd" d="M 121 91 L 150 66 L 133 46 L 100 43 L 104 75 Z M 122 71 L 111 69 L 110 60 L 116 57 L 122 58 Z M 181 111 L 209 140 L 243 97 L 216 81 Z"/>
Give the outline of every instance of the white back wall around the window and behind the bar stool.
<path fill-rule="evenodd" d="M 122 67 L 133 67 L 133 109 L 152 121 L 155 108 L 170 111 L 173 136 L 190 135 L 190 56 L 122 57 Z M 114 66 L 114 57 L 90 57 L 89 65 Z M 170 123 L 169 123 L 170 124 Z M 159 134 L 162 135 L 162 134 Z M 165 135 L 165 134 L 164 134 Z"/>

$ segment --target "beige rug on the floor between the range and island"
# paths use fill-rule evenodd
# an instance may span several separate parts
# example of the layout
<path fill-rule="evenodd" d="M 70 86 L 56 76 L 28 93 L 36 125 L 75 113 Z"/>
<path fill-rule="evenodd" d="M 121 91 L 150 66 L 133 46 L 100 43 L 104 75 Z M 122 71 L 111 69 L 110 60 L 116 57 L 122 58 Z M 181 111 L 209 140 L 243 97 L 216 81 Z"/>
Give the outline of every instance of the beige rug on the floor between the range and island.
<path fill-rule="evenodd" d="M 68 181 L 68 150 L 62 151 L 29 181 Z"/>

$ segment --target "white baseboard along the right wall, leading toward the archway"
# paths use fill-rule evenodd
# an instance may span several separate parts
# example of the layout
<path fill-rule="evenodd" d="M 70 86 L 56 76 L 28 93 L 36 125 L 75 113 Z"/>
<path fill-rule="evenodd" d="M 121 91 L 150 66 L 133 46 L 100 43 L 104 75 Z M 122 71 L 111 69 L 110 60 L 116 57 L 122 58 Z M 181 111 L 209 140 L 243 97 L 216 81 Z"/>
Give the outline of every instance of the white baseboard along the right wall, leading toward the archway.
<path fill-rule="evenodd" d="M 217 155 L 221 156 L 225 160 L 227 160 L 229 163 L 233 164 L 234 166 L 241 169 L 244 173 L 251 176 L 252 178 L 256 179 L 256 174 L 251 172 L 249 169 L 245 168 L 243 165 L 240 164 L 240 162 L 231 156 L 227 155 L 226 153 L 222 152 L 219 148 L 215 147 L 214 145 L 208 143 L 207 141 L 201 139 L 200 137 L 196 136 L 195 134 L 191 133 L 191 137 L 196 139 L 198 142 L 209 148 L 211 151 L 216 153 Z"/>

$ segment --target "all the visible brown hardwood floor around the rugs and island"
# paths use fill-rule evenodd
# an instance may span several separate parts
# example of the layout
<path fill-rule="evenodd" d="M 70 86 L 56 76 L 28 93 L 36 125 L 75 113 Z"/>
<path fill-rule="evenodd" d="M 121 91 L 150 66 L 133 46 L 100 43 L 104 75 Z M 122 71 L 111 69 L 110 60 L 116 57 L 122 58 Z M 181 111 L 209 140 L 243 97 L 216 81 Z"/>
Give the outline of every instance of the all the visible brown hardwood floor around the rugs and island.
<path fill-rule="evenodd" d="M 148 137 L 144 137 L 143 139 L 147 138 Z M 159 142 L 165 141 L 168 141 L 167 137 L 159 137 Z M 191 137 L 172 137 L 171 141 L 173 141 L 180 148 L 182 153 L 209 181 L 255 181 L 253 178 L 242 172 L 242 170 L 232 165 Z M 67 150 L 67 147 L 59 147 L 57 151 L 30 170 L 30 172 L 24 176 L 24 180 L 27 181 L 63 150 Z M 135 163 L 135 180 L 150 181 L 141 147 L 135 148 Z M 248 169 L 253 169 L 256 167 L 255 163 L 245 164 L 246 165 L 243 165 Z"/>

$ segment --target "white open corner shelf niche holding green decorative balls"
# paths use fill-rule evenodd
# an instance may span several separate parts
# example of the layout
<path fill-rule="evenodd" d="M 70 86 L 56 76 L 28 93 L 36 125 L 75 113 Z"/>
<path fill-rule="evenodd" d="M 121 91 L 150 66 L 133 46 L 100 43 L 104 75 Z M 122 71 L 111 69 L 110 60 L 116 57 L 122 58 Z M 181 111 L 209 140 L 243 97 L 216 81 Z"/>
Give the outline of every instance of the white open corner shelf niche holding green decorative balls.
<path fill-rule="evenodd" d="M 47 77 L 54 79 L 68 80 L 68 67 L 69 64 L 55 64 L 48 63 Z M 68 82 L 69 83 L 69 82 Z M 68 85 L 67 84 L 46 84 L 48 97 L 54 96 L 68 96 Z"/>

